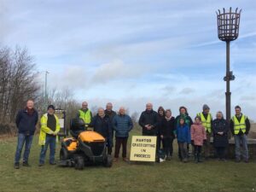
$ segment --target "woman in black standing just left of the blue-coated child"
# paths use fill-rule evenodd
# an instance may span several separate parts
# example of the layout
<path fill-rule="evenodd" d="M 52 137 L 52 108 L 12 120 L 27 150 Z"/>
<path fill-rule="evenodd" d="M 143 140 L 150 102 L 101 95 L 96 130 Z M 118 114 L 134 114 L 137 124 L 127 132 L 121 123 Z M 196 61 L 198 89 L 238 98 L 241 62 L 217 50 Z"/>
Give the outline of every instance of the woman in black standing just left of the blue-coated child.
<path fill-rule="evenodd" d="M 171 109 L 167 109 L 166 116 L 164 119 L 162 119 L 160 127 L 160 137 L 163 139 L 166 160 L 171 160 L 172 157 L 172 143 L 175 138 L 175 130 L 175 118 L 172 117 Z"/>

